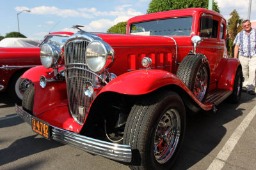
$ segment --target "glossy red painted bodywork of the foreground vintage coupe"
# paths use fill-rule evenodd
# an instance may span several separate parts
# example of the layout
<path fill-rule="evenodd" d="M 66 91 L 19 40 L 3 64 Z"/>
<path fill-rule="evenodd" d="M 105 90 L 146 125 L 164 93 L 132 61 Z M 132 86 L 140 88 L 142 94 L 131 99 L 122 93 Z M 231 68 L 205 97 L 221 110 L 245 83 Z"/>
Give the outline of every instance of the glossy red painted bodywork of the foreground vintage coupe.
<path fill-rule="evenodd" d="M 190 8 L 131 18 L 127 22 L 127 34 L 125 35 L 97 33 L 97 36 L 108 43 L 115 51 L 115 60 L 108 71 L 117 76 L 100 90 L 98 96 L 104 95 L 104 92 L 142 95 L 164 86 L 170 87 L 170 85 L 174 85 L 183 89 L 203 110 L 211 110 L 213 104 L 198 101 L 188 87 L 175 76 L 179 63 L 193 49 L 191 38 L 195 35 L 200 35 L 200 21 L 204 14 L 212 15 L 212 19 L 218 23 L 218 25 L 216 24 L 218 33 L 216 38 L 204 38 L 200 45 L 197 46 L 196 53 L 204 54 L 210 64 L 210 90 L 216 88 L 232 90 L 239 61 L 223 57 L 225 28 L 227 25 L 225 19 L 215 11 Z M 135 36 L 129 34 L 132 23 L 189 16 L 193 17 L 190 36 Z M 220 34 L 221 23 L 225 25 L 223 37 Z M 143 57 L 152 59 L 152 69 L 145 70 L 141 66 Z M 44 75 L 46 78 L 51 78 L 52 75 L 49 74 L 51 71 L 52 69 L 45 69 L 41 66 L 30 69 L 23 75 L 24 78 L 29 78 L 35 84 L 35 108 L 33 113 L 52 125 L 75 132 L 80 127 L 74 123 L 74 120 L 71 120 L 72 118 L 67 109 L 65 81 L 49 83 L 45 89 L 39 86 L 40 76 Z M 61 124 L 61 122 L 63 123 Z M 68 127 L 68 124 L 72 127 Z"/>

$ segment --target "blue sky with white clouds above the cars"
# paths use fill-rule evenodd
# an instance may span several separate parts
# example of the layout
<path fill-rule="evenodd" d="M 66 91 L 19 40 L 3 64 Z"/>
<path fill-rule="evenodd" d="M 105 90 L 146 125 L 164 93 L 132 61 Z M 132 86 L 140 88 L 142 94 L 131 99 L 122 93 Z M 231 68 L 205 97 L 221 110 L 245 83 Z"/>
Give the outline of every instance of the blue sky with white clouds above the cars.
<path fill-rule="evenodd" d="M 106 32 L 118 22 L 147 13 L 151 0 L 0 0 L 0 36 L 18 31 L 28 38 L 42 39 L 49 32 L 70 31 L 72 25 L 84 25 L 84 31 Z M 226 20 L 236 9 L 248 18 L 250 0 L 216 0 Z M 256 0 L 252 0 L 250 20 L 256 20 Z"/>

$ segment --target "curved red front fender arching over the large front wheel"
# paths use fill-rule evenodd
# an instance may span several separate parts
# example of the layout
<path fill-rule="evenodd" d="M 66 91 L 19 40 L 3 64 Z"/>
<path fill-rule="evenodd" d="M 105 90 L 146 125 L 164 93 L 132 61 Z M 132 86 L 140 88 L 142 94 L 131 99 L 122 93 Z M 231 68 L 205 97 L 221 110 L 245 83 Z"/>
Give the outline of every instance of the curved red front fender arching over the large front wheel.
<path fill-rule="evenodd" d="M 171 84 L 186 89 L 186 85 L 172 73 L 158 69 L 144 69 L 116 77 L 100 90 L 100 93 L 117 92 L 119 94 L 141 95 Z"/>

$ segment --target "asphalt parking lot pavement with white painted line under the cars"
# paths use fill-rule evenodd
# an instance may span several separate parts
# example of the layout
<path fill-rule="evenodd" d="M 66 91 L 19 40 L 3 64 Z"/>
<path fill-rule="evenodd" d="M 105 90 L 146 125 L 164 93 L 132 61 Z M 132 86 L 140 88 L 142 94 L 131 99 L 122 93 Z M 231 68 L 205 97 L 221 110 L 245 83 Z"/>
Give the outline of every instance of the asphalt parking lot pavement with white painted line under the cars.
<path fill-rule="evenodd" d="M 221 103 L 217 112 L 188 113 L 186 138 L 173 169 L 256 169 L 256 97 Z M 31 131 L 0 93 L 0 169 L 129 169 L 48 141 Z"/>

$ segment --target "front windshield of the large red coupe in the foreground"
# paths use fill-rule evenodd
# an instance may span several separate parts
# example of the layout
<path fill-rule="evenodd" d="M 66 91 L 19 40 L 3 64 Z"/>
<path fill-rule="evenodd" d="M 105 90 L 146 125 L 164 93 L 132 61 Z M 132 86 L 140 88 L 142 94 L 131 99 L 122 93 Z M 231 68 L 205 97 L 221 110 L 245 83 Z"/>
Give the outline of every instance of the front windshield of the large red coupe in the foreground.
<path fill-rule="evenodd" d="M 131 25 L 130 34 L 143 36 L 190 36 L 193 17 L 151 20 Z"/>

